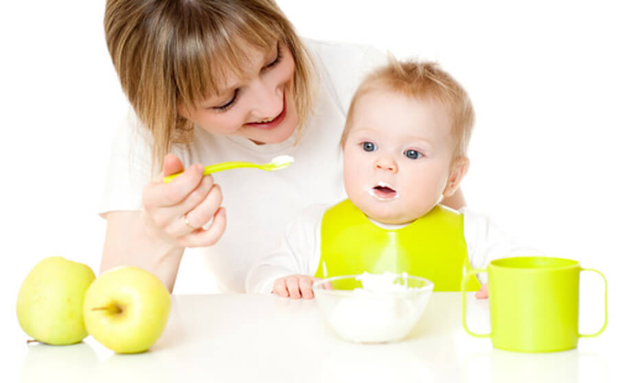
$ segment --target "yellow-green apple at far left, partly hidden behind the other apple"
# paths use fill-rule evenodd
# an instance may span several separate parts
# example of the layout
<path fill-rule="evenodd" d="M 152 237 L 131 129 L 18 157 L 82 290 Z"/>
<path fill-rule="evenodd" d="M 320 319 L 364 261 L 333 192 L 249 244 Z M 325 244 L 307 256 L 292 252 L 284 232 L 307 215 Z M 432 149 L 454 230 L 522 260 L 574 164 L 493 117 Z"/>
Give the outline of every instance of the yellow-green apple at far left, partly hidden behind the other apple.
<path fill-rule="evenodd" d="M 71 345 L 86 338 L 82 307 L 95 274 L 87 265 L 49 257 L 34 266 L 17 295 L 17 321 L 38 342 Z"/>

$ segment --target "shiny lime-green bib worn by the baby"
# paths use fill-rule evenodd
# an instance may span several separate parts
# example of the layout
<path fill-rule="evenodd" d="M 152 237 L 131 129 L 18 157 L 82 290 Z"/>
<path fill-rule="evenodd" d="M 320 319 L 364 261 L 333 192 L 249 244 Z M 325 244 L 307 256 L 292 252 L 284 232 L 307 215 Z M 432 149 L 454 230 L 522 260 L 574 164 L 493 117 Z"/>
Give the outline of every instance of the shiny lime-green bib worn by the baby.
<path fill-rule="evenodd" d="M 407 272 L 434 283 L 434 291 L 459 291 L 470 270 L 464 216 L 436 205 L 401 229 L 377 227 L 350 200 L 328 209 L 322 218 L 321 257 L 315 277 L 371 272 Z M 470 278 L 466 290 L 481 284 Z"/>

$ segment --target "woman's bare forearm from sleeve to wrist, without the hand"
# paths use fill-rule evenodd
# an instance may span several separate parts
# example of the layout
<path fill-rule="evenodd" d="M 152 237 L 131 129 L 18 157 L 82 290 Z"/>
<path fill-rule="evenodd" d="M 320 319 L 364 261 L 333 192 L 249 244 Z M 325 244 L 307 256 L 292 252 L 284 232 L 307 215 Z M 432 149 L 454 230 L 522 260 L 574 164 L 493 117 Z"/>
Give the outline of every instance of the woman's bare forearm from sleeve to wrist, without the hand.
<path fill-rule="evenodd" d="M 159 277 L 172 292 L 185 249 L 149 233 L 142 211 L 111 211 L 106 218 L 100 272 L 120 265 L 137 266 Z"/>

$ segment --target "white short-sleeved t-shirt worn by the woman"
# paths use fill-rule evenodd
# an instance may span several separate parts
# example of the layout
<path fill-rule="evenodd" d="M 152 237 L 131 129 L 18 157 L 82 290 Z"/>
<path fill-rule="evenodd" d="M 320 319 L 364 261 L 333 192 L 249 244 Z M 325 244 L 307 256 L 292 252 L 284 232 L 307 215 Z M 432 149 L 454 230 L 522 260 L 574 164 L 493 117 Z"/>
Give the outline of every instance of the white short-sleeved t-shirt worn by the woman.
<path fill-rule="evenodd" d="M 222 292 L 244 292 L 249 267 L 277 243 L 286 222 L 301 209 L 345 198 L 339 139 L 347 108 L 362 78 L 385 64 L 387 55 L 366 45 L 306 40 L 306 46 L 319 78 L 314 112 L 296 145 L 296 135 L 258 146 L 249 139 L 211 135 L 196 127 L 188 149 L 172 148 L 185 167 L 224 161 L 268 163 L 282 154 L 294 157 L 290 167 L 277 172 L 237 169 L 213 174 L 222 189 L 227 229 L 214 246 L 187 249 L 184 256 L 201 257 Z M 113 143 L 102 216 L 142 209 L 141 192 L 151 178 L 151 148 L 150 133 L 130 111 Z"/>

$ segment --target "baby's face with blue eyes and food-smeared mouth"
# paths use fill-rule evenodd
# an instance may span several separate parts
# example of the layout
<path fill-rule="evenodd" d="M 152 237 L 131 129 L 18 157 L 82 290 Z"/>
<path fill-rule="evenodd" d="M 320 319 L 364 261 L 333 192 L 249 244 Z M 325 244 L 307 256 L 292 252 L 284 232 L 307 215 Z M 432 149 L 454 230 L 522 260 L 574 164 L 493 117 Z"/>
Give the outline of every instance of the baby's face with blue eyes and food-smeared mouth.
<path fill-rule="evenodd" d="M 367 93 L 343 147 L 347 196 L 369 218 L 411 222 L 450 193 L 454 150 L 450 117 L 437 102 Z"/>

